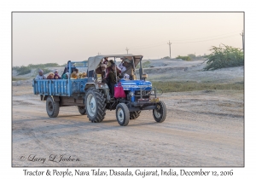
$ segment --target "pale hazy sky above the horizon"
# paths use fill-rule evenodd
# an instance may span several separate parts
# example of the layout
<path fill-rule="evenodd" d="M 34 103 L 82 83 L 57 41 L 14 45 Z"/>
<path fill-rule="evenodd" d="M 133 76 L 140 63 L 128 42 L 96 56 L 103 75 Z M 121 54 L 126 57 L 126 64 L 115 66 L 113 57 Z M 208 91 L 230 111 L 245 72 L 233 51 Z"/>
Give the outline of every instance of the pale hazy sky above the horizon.
<path fill-rule="evenodd" d="M 220 44 L 242 48 L 244 14 L 13 12 L 13 66 L 84 61 L 102 54 L 160 59 L 210 54 Z"/>

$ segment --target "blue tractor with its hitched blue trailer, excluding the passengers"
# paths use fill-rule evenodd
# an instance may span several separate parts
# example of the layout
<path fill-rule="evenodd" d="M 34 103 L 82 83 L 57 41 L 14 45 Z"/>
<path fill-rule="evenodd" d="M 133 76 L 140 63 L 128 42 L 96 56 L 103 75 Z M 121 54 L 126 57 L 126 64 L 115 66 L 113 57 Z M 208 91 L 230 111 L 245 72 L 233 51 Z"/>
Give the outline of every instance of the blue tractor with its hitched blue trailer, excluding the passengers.
<path fill-rule="evenodd" d="M 120 59 L 129 62 L 130 66 L 119 77 L 118 70 L 114 71 L 117 79 L 114 91 L 123 92 L 123 96 L 115 96 L 113 91 L 111 93 L 112 87 L 99 72 L 102 63 L 108 66 L 109 61 L 104 61 L 107 58 L 112 59 L 113 64 Z M 161 92 L 157 94 L 161 90 L 153 88 L 151 82 L 146 81 L 148 75 L 143 73 L 142 59 L 143 55 L 96 55 L 88 59 L 88 66 L 85 63 L 82 65 L 87 66 L 86 78 L 34 80 L 34 94 L 46 101 L 50 118 L 58 116 L 59 107 L 78 106 L 79 113 L 87 114 L 92 123 L 102 122 L 107 109 L 115 110 L 117 121 L 122 126 L 129 124 L 130 119 L 138 118 L 143 110 L 152 110 L 154 120 L 161 123 L 166 119 L 166 105 L 157 97 L 161 95 Z M 75 62 L 68 63 L 69 72 Z M 136 66 L 139 66 L 139 74 L 136 74 Z M 129 79 L 123 78 L 127 72 Z"/>

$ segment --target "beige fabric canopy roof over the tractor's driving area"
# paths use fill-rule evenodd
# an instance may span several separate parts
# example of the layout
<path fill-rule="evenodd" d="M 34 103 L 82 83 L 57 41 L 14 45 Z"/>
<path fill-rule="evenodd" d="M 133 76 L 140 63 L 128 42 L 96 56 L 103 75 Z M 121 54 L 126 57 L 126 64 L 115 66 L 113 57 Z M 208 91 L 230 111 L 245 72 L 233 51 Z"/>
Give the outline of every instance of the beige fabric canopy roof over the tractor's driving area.
<path fill-rule="evenodd" d="M 136 67 L 137 64 L 143 59 L 143 55 L 132 55 L 132 54 L 125 54 L 125 55 L 96 55 L 91 56 L 88 58 L 88 71 L 95 70 L 96 67 L 100 64 L 100 62 L 105 57 L 113 57 L 115 58 L 126 58 L 129 61 L 134 61 L 134 66 Z"/>

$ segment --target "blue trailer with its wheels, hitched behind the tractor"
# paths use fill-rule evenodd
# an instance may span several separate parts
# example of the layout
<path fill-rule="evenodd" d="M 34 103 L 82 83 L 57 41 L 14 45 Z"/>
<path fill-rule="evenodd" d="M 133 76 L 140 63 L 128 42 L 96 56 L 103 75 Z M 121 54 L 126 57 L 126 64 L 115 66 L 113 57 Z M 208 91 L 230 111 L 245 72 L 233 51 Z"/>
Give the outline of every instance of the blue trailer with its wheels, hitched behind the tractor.
<path fill-rule="evenodd" d="M 68 72 L 76 68 L 87 69 L 87 61 L 68 61 Z M 50 118 L 59 114 L 60 107 L 77 106 L 79 113 L 86 114 L 84 109 L 85 84 L 88 78 L 72 79 L 34 79 L 32 82 L 34 95 L 40 95 L 41 101 L 46 101 L 46 111 Z"/>

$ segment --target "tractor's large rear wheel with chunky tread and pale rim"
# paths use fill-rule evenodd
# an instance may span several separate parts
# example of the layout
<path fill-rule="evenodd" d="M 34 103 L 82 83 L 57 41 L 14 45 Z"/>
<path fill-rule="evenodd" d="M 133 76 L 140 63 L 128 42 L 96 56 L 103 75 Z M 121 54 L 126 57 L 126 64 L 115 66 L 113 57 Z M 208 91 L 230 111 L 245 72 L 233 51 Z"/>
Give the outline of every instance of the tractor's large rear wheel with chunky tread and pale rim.
<path fill-rule="evenodd" d="M 106 99 L 101 91 L 90 88 L 85 95 L 87 117 L 92 123 L 100 123 L 106 115 Z"/>

